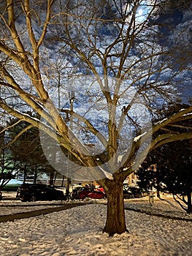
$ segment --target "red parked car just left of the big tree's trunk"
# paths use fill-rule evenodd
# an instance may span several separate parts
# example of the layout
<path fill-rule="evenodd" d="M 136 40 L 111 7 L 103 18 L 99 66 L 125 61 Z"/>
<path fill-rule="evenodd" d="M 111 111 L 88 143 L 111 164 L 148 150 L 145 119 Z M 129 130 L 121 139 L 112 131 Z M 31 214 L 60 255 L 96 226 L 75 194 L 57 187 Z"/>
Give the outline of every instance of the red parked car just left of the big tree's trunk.
<path fill-rule="evenodd" d="M 85 197 L 93 198 L 93 199 L 102 199 L 106 198 L 107 195 L 104 191 L 96 189 L 94 187 L 77 187 L 73 190 L 71 194 L 72 200 L 81 199 L 84 200 Z"/>

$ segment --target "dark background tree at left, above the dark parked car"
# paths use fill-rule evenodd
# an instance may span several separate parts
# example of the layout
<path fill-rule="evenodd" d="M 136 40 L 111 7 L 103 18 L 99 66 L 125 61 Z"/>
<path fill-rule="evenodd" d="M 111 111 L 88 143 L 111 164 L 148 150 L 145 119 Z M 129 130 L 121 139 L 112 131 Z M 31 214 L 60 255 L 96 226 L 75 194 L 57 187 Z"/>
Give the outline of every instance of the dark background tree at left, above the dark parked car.
<path fill-rule="evenodd" d="M 47 173 L 50 176 L 50 185 L 53 185 L 55 169 L 42 151 L 39 129 L 17 118 L 12 118 L 8 125 L 9 140 L 5 146 L 12 154 L 12 161 L 18 162 L 18 170 L 23 173 L 23 183 L 30 175 L 34 176 L 36 183 L 40 174 Z"/>

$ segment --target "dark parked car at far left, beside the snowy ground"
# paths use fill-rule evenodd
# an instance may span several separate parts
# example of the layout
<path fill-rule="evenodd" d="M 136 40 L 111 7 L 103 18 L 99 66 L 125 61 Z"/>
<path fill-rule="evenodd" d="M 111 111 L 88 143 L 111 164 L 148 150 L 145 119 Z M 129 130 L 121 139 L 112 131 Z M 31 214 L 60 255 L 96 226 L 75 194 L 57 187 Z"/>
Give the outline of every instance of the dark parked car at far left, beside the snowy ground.
<path fill-rule="evenodd" d="M 22 184 L 16 195 L 22 202 L 39 200 L 66 200 L 64 192 L 45 184 Z"/>

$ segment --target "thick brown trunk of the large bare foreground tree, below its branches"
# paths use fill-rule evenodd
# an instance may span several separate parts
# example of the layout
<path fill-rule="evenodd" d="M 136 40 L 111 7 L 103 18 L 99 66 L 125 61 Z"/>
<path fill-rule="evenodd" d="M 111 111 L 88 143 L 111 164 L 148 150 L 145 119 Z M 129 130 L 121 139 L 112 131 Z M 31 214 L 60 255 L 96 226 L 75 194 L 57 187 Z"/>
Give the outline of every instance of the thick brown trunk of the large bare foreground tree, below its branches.
<path fill-rule="evenodd" d="M 115 233 L 128 232 L 126 229 L 123 200 L 123 184 L 112 184 L 107 190 L 107 221 L 104 232 L 112 236 Z"/>

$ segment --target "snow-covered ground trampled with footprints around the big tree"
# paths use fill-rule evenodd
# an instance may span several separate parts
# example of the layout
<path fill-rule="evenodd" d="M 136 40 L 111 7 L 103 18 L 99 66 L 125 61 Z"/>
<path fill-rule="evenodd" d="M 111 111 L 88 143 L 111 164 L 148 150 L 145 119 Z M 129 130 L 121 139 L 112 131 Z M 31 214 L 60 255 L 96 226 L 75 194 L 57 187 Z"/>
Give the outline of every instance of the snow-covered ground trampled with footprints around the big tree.
<path fill-rule="evenodd" d="M 147 197 L 125 200 L 126 225 L 129 233 L 109 237 L 102 233 L 106 201 L 89 200 L 85 206 L 53 212 L 40 217 L 0 223 L 0 255 L 19 256 L 191 256 L 192 216 L 174 201 L 158 200 L 152 206 Z M 61 202 L 0 202 L 0 215 L 34 208 L 55 207 Z M 131 211 L 130 209 L 134 209 Z M 145 211 L 141 213 L 138 211 Z M 155 217 L 162 214 L 166 217 Z M 182 217 L 175 220 L 172 217 Z M 191 220 L 191 221 L 186 221 Z"/>

